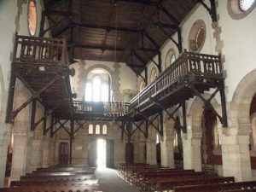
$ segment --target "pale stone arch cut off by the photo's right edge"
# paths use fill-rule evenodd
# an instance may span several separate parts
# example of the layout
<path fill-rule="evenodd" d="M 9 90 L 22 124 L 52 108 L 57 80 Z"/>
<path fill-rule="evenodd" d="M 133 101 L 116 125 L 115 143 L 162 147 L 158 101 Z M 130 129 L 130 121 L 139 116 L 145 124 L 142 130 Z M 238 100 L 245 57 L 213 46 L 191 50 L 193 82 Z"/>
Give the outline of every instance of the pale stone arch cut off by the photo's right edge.
<path fill-rule="evenodd" d="M 230 105 L 230 125 L 237 127 L 237 134 L 249 134 L 251 131 L 250 105 L 256 93 L 256 69 L 247 73 L 236 86 Z"/>

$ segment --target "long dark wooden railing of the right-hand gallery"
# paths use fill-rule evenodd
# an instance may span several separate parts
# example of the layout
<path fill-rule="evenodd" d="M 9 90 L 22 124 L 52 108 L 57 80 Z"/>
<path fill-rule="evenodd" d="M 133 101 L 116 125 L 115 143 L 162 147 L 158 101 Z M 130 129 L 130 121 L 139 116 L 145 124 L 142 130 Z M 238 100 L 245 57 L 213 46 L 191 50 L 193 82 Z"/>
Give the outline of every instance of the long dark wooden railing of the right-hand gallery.
<path fill-rule="evenodd" d="M 184 79 L 193 76 L 201 79 L 223 79 L 220 55 L 205 55 L 184 52 L 170 67 L 159 74 L 157 79 L 135 96 L 130 103 L 129 110 L 148 101 L 161 91 Z"/>

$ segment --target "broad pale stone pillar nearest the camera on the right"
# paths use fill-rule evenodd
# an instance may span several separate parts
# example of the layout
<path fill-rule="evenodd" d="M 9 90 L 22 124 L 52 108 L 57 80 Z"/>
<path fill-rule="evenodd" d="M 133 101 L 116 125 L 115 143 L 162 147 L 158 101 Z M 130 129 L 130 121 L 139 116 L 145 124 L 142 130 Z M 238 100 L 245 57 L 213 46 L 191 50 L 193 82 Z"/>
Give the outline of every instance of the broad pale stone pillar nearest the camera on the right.
<path fill-rule="evenodd" d="M 224 177 L 234 176 L 236 181 L 252 179 L 251 160 L 249 153 L 249 131 L 241 135 L 232 135 L 232 128 L 219 128 Z M 234 131 L 236 129 L 233 129 Z"/>

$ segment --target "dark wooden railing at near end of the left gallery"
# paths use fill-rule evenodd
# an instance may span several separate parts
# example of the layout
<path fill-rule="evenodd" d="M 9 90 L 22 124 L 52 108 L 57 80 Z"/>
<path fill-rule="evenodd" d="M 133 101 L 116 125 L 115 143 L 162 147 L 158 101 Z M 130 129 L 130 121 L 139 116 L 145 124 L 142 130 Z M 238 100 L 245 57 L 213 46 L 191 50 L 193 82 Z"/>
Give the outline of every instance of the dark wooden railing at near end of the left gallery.
<path fill-rule="evenodd" d="M 66 40 L 17 35 L 13 61 L 44 65 L 67 64 Z"/>

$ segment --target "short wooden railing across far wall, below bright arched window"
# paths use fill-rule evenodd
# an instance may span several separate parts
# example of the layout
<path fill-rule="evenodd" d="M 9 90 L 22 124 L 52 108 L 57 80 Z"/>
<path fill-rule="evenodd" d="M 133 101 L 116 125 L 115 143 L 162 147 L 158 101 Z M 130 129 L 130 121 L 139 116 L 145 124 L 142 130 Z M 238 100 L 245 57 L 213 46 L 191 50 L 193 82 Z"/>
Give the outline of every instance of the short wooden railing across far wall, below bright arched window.
<path fill-rule="evenodd" d="M 73 101 L 75 113 L 100 113 L 108 115 L 108 112 L 128 113 L 129 104 L 126 102 L 83 102 Z M 112 110 L 112 111 L 111 111 Z M 122 111 L 120 111 L 122 110 Z"/>

